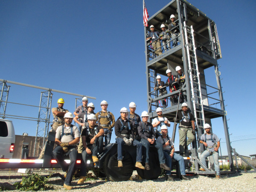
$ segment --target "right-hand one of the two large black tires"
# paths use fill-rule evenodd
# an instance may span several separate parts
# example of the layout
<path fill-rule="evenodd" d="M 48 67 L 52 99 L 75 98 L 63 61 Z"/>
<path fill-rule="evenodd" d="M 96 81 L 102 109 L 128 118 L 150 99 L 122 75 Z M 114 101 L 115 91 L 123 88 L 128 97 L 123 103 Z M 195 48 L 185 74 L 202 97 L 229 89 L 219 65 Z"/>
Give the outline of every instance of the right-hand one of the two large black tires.
<path fill-rule="evenodd" d="M 145 166 L 145 164 L 143 165 Z M 150 166 L 150 170 L 145 170 L 145 169 L 143 170 L 143 169 L 136 168 L 138 175 L 140 175 L 141 178 L 147 179 L 147 180 L 157 179 L 161 174 L 161 168 L 159 165 L 157 150 L 150 151 L 149 166 Z"/>

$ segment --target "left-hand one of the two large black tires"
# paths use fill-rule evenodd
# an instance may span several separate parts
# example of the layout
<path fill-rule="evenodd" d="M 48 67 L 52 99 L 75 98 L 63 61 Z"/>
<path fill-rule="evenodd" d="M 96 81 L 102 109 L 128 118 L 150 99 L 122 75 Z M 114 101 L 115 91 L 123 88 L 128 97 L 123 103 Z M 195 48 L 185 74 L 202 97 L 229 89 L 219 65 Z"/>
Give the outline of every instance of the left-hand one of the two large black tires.
<path fill-rule="evenodd" d="M 118 167 L 117 152 L 115 154 L 108 154 L 103 164 L 103 170 L 111 181 L 125 181 L 128 180 L 134 169 L 134 162 L 131 155 L 127 151 L 122 151 L 123 167 Z"/>

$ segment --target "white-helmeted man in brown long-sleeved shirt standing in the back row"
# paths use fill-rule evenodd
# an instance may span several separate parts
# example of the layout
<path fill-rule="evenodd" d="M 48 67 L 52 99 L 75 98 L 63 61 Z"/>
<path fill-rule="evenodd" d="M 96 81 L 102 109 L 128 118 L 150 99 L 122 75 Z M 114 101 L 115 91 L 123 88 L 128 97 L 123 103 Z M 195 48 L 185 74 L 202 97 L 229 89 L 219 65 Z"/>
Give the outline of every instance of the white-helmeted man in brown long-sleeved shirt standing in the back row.
<path fill-rule="evenodd" d="M 115 117 L 113 113 L 107 111 L 108 102 L 103 100 L 100 103 L 100 106 L 102 108 L 102 111 L 99 111 L 98 113 L 96 113 L 96 117 L 97 117 L 98 125 L 101 125 L 102 128 L 104 129 L 105 146 L 107 146 L 111 140 L 112 128 L 115 125 Z"/>

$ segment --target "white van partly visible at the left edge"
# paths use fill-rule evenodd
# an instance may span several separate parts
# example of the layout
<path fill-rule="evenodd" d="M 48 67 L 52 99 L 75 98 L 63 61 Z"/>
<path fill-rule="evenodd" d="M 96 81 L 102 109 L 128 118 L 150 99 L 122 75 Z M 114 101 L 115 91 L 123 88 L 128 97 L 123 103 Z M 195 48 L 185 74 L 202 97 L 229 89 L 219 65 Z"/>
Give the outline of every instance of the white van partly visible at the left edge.
<path fill-rule="evenodd" d="M 12 159 L 15 144 L 15 131 L 12 121 L 0 119 L 0 158 Z"/>

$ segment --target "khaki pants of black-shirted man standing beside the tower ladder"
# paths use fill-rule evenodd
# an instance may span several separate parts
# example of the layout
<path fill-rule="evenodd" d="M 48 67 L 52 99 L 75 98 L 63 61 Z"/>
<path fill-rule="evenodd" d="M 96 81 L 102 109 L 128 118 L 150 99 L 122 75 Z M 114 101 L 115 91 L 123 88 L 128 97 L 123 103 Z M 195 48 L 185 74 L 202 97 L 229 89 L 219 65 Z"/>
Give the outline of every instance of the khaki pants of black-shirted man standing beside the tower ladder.
<path fill-rule="evenodd" d="M 192 134 L 192 128 L 179 128 L 180 135 L 180 154 L 185 153 L 185 147 L 195 140 L 195 135 Z M 188 139 L 186 140 L 186 137 Z"/>

